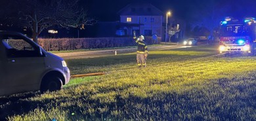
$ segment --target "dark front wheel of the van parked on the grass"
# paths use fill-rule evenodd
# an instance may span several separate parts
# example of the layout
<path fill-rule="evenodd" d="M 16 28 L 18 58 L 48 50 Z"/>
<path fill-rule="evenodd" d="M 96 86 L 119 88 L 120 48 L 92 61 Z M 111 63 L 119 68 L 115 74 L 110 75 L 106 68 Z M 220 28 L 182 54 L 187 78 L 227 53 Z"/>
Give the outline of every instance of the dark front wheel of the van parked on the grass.
<path fill-rule="evenodd" d="M 41 84 L 41 93 L 49 90 L 50 92 L 62 89 L 62 80 L 58 77 L 46 78 Z"/>

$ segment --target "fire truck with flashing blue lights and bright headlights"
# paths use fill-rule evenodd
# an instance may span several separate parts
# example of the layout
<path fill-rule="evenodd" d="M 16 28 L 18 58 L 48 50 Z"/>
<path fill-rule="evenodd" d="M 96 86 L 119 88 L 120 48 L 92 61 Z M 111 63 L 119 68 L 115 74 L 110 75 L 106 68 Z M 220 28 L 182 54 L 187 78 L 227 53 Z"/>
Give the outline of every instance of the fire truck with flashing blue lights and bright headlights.
<path fill-rule="evenodd" d="M 242 20 L 226 18 L 221 22 L 219 31 L 219 52 L 254 55 L 255 30 L 255 18 L 244 18 Z"/>

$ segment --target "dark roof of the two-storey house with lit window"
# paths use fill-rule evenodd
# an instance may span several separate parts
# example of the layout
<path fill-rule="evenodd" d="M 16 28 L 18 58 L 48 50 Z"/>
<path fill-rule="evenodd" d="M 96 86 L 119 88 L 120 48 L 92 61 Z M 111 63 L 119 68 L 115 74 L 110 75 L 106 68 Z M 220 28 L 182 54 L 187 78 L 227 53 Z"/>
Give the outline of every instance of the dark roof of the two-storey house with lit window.
<path fill-rule="evenodd" d="M 163 16 L 163 12 L 150 3 L 131 3 L 117 12 L 120 16 Z"/>

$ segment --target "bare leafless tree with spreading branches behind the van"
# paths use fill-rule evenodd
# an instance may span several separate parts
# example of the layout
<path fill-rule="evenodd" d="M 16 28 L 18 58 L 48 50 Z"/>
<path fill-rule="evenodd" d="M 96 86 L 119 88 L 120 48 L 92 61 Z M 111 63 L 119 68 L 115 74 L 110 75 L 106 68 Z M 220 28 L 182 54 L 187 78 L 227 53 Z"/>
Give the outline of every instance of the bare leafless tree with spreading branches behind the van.
<path fill-rule="evenodd" d="M 18 6 L 18 18 L 11 21 L 20 22 L 32 30 L 32 38 L 37 43 L 38 35 L 48 27 L 79 27 L 93 25 L 94 18 L 87 17 L 87 11 L 79 9 L 79 0 L 14 0 Z"/>

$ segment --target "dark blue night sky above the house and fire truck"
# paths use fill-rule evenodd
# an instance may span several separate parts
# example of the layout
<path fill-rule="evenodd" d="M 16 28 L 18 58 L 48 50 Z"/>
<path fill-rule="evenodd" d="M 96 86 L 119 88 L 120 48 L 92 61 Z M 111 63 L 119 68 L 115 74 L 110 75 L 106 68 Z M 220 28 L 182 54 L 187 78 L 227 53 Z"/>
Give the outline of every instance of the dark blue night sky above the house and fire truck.
<path fill-rule="evenodd" d="M 118 21 L 117 12 L 132 2 L 146 0 L 82 0 L 81 5 L 88 10 L 89 16 L 99 21 Z M 214 5 L 215 16 L 233 16 L 236 18 L 256 16 L 255 0 L 147 0 L 163 11 L 173 12 L 175 18 L 184 20 L 195 17 L 207 17 Z M 194 17 L 194 18 L 193 18 Z"/>

